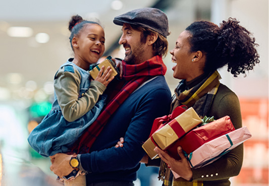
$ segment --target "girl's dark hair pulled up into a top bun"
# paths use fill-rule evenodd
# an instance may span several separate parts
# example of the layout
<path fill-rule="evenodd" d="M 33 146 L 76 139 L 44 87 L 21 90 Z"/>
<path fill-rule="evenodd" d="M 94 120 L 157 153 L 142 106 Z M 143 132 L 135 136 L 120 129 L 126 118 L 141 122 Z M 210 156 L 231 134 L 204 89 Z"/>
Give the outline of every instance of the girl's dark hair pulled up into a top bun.
<path fill-rule="evenodd" d="M 79 15 L 72 16 L 71 20 L 69 21 L 69 26 L 68 26 L 68 29 L 71 32 L 69 40 L 70 40 L 72 49 L 73 49 L 73 46 L 72 46 L 73 37 L 74 36 L 79 37 L 79 34 L 81 33 L 81 30 L 84 28 L 85 24 L 97 24 L 97 25 L 101 26 L 97 22 L 84 20 Z"/>

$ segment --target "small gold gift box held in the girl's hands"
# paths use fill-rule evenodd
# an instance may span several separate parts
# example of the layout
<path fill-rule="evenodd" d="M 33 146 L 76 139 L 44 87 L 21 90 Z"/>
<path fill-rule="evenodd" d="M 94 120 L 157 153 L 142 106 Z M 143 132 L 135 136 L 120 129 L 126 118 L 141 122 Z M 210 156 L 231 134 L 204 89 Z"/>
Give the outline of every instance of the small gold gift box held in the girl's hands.
<path fill-rule="evenodd" d="M 112 73 L 111 73 L 109 79 L 111 77 L 113 77 L 113 76 L 117 76 L 118 75 L 118 70 L 117 70 L 116 64 L 111 59 L 112 59 L 111 56 L 106 57 L 101 63 L 99 63 L 96 67 L 94 67 L 90 71 L 90 76 L 92 77 L 93 80 L 95 80 L 95 78 L 97 77 L 97 75 L 98 75 L 100 69 L 102 68 L 102 66 L 104 66 L 104 71 L 107 69 L 107 67 L 111 67 Z"/>

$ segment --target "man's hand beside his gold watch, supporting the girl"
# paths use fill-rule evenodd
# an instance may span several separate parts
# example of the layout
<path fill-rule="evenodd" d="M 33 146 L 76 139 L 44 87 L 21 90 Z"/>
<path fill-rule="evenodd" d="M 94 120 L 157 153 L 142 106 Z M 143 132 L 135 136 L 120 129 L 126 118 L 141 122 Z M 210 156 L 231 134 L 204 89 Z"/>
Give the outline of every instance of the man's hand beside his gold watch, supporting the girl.
<path fill-rule="evenodd" d="M 61 179 L 63 176 L 67 176 L 73 171 L 73 168 L 69 164 L 71 157 L 74 155 L 67 155 L 64 153 L 58 153 L 50 156 L 50 170 L 58 175 Z"/>

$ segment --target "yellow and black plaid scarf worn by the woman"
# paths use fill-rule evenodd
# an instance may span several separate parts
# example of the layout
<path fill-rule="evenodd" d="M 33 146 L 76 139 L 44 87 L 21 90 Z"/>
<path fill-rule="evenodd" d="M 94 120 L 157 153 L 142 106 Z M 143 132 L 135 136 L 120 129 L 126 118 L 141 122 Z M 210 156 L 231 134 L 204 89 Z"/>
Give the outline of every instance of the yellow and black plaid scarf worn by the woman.
<path fill-rule="evenodd" d="M 193 107 L 199 116 L 205 116 L 218 91 L 220 85 L 219 79 L 221 79 L 221 76 L 218 71 L 215 71 L 189 90 L 186 90 L 186 80 L 182 80 L 176 87 L 175 94 L 172 97 L 171 111 L 179 105 L 186 105 L 188 108 Z M 164 181 L 165 186 L 203 185 L 202 181 L 187 181 L 181 177 L 175 179 L 164 161 L 160 163 L 159 179 Z"/>

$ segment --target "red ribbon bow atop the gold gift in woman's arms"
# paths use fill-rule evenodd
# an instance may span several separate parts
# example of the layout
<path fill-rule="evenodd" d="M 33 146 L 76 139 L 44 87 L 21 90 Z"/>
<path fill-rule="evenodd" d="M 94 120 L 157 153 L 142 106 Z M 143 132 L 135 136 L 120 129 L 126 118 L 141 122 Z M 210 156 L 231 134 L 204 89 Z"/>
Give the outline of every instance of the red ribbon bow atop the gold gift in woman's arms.
<path fill-rule="evenodd" d="M 188 107 L 186 105 L 180 105 L 176 107 L 171 114 L 165 115 L 163 117 L 157 117 L 156 119 L 154 119 L 149 137 L 151 137 L 155 131 L 164 127 L 169 121 L 171 121 L 172 119 L 176 118 L 177 116 L 182 114 L 184 111 L 186 111 L 187 108 Z"/>

